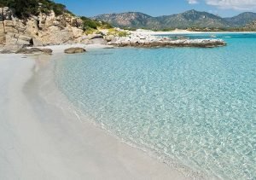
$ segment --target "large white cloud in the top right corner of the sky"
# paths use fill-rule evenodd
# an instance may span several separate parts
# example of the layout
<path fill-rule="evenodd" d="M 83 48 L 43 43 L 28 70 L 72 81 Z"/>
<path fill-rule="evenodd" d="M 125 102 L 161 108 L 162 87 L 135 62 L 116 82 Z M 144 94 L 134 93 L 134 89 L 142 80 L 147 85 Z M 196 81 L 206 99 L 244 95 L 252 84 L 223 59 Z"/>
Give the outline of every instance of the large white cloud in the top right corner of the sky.
<path fill-rule="evenodd" d="M 219 9 L 256 9 L 256 0 L 206 0 L 206 3 Z"/>

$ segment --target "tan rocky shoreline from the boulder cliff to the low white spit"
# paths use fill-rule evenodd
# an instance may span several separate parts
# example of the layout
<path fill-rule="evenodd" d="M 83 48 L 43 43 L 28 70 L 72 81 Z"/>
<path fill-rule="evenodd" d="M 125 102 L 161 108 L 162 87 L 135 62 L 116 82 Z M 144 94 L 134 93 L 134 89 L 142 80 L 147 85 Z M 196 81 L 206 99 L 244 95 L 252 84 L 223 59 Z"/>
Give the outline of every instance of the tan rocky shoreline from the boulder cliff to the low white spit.
<path fill-rule="evenodd" d="M 74 15 L 55 15 L 51 11 L 49 15 L 40 13 L 38 16 L 32 15 L 26 20 L 20 20 L 15 16 L 15 10 L 0 8 L 0 53 L 16 53 L 26 47 L 60 44 L 107 44 L 114 47 L 143 48 L 213 48 L 226 45 L 221 39 L 172 39 L 150 35 L 146 30 L 132 32 L 113 28 L 85 34 L 83 21 Z"/>

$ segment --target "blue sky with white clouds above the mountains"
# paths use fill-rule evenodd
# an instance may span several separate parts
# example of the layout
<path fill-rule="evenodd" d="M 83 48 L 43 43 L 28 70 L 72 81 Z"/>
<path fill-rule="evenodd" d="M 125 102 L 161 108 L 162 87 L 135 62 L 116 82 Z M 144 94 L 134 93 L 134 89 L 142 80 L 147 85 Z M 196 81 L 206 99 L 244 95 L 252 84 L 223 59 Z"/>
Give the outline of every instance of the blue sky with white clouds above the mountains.
<path fill-rule="evenodd" d="M 141 12 L 151 16 L 172 15 L 195 9 L 222 17 L 256 12 L 256 0 L 54 0 L 75 15 Z"/>

